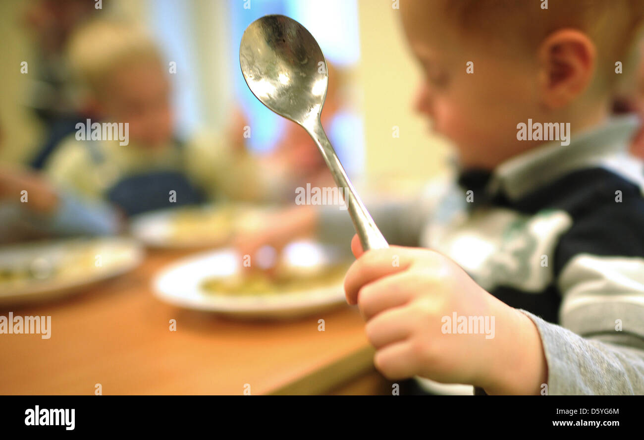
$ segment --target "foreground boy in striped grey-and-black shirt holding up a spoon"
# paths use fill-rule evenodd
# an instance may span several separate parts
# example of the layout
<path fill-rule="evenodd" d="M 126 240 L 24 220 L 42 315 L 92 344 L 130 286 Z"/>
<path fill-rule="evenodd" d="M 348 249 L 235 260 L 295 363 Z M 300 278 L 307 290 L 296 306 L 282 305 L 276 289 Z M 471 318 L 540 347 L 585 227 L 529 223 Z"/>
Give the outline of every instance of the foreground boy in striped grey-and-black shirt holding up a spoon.
<path fill-rule="evenodd" d="M 389 379 L 644 394 L 644 167 L 628 151 L 638 121 L 609 118 L 615 61 L 644 10 L 542 5 L 401 2 L 424 72 L 416 108 L 453 141 L 458 174 L 440 198 L 431 186 L 372 208 L 390 243 L 423 248 L 363 253 L 354 236 L 346 298 Z M 337 209 L 282 216 L 263 240 L 351 229 Z"/>

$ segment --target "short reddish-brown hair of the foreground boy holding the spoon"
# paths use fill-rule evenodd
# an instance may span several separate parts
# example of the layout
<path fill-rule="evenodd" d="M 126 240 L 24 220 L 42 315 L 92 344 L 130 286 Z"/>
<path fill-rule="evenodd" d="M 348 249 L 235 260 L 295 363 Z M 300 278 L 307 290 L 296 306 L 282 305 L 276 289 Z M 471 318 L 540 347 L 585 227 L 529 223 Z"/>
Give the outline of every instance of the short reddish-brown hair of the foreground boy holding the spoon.
<path fill-rule="evenodd" d="M 448 17 L 457 21 L 464 32 L 484 32 L 510 41 L 520 39 L 518 43 L 535 50 L 556 30 L 578 29 L 595 43 L 599 72 L 611 85 L 618 76 L 614 75 L 614 62 L 625 63 L 644 22 L 642 0 L 442 1 Z"/>

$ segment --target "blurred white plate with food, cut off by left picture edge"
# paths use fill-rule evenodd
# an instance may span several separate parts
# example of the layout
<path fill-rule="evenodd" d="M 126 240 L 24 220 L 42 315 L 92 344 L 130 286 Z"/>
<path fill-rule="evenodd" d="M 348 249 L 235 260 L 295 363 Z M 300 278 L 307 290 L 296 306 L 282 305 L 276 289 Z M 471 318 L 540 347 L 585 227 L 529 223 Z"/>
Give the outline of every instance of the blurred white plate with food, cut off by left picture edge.
<path fill-rule="evenodd" d="M 0 247 L 0 305 L 66 296 L 92 283 L 126 273 L 143 259 L 129 238 L 74 238 Z M 1 271 L 40 274 L 7 282 Z M 52 272 L 53 269 L 53 272 Z M 48 276 L 48 273 L 52 275 Z"/>

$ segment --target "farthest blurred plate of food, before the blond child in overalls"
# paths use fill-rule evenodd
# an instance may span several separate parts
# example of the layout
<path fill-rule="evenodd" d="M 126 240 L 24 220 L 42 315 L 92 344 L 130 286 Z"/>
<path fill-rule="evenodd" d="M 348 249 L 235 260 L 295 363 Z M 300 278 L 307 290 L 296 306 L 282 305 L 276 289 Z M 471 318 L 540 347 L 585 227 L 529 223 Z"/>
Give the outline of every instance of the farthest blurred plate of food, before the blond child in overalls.
<path fill-rule="evenodd" d="M 260 227 L 270 212 L 270 206 L 232 203 L 162 209 L 135 216 L 129 231 L 134 238 L 156 249 L 217 247 L 224 245 L 240 228 L 248 231 Z M 234 220 L 217 223 L 222 213 L 233 216 Z M 177 231 L 182 217 L 183 229 Z"/>

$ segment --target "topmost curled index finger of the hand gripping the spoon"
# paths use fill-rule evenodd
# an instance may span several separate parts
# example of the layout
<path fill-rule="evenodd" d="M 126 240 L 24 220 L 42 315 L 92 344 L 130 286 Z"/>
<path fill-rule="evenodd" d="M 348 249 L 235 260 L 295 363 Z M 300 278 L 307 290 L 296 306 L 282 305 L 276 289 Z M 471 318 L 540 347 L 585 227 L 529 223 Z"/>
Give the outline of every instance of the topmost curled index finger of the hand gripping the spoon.
<path fill-rule="evenodd" d="M 387 249 L 371 249 L 349 267 L 345 276 L 346 301 L 357 303 L 358 291 L 366 283 L 390 274 L 404 271 L 412 263 L 411 249 L 391 246 Z"/>

